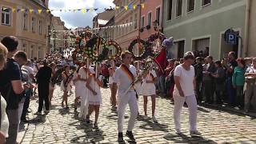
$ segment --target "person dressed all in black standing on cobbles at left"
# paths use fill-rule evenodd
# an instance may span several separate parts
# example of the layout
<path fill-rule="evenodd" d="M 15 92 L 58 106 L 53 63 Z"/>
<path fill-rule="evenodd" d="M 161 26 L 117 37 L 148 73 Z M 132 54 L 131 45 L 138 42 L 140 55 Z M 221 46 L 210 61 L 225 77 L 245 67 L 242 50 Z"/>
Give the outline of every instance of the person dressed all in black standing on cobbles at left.
<path fill-rule="evenodd" d="M 45 102 L 46 110 L 45 114 L 49 113 L 49 84 L 51 77 L 51 69 L 48 66 L 47 60 L 43 60 L 43 66 L 39 68 L 38 73 L 35 78 L 38 82 L 38 98 L 39 98 L 39 106 L 38 112 L 36 114 L 42 114 L 42 106 L 43 102 Z"/>

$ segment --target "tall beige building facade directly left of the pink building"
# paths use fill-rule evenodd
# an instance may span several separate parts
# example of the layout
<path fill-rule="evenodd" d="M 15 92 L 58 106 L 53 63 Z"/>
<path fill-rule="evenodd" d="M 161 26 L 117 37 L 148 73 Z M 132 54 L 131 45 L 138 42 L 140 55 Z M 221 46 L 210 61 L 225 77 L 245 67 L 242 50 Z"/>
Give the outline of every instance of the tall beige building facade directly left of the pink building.
<path fill-rule="evenodd" d="M 138 5 L 140 2 L 140 0 L 114 0 L 114 4 L 116 6 L 134 6 Z M 128 50 L 130 42 L 138 38 L 139 18 L 140 16 L 138 8 L 135 10 L 115 10 L 115 25 L 122 25 L 129 22 L 134 22 L 134 24 L 131 26 L 118 26 L 114 29 L 114 41 L 118 42 L 118 44 L 122 47 L 122 50 Z"/>

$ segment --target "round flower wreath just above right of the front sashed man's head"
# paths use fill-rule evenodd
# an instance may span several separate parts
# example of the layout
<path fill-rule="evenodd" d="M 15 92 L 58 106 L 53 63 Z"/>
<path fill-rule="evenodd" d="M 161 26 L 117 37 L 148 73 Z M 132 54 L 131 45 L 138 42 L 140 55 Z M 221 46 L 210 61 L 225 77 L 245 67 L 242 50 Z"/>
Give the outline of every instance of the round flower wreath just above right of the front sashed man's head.
<path fill-rule="evenodd" d="M 138 42 L 140 43 L 139 49 L 142 49 L 143 52 L 142 52 L 142 54 L 140 54 L 138 56 L 135 56 L 134 52 L 133 52 L 133 49 L 134 49 L 134 45 Z M 151 50 L 150 45 L 149 45 L 149 42 L 143 41 L 142 39 L 134 39 L 130 43 L 130 46 L 129 46 L 128 50 L 133 54 L 133 57 L 134 57 L 135 61 L 141 61 L 141 60 L 147 58 L 148 56 L 153 55 L 152 50 Z"/>

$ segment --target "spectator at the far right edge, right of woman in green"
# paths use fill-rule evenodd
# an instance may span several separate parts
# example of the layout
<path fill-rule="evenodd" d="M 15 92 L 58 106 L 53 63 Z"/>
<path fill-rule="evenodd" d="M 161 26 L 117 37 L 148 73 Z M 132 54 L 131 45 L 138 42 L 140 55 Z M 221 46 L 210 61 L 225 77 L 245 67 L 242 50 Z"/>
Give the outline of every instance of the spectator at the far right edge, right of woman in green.
<path fill-rule="evenodd" d="M 246 91 L 245 106 L 246 112 L 250 110 L 250 106 L 256 110 L 256 58 L 252 59 L 253 65 L 246 70 Z"/>

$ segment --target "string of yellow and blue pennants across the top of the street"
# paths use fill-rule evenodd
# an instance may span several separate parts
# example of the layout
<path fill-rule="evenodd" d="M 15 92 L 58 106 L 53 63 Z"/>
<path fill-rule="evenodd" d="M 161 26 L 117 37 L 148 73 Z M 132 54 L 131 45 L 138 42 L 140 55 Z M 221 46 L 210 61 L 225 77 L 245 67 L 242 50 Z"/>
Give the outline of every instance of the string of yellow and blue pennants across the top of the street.
<path fill-rule="evenodd" d="M 78 12 L 81 11 L 83 14 L 84 13 L 88 13 L 88 12 L 94 12 L 94 11 L 98 11 L 98 10 L 136 10 L 138 8 L 142 7 L 142 9 L 145 7 L 144 3 L 141 4 L 130 4 L 127 6 L 115 6 L 115 7 L 109 7 L 109 8 L 82 8 L 82 9 L 16 9 L 16 8 L 7 8 L 7 7 L 2 7 L 2 11 L 6 11 L 6 10 L 11 10 L 13 13 L 14 12 L 25 12 L 25 13 L 37 13 L 37 14 L 41 14 L 41 13 L 50 13 L 53 11 L 59 11 L 59 12 Z"/>

